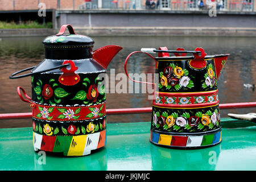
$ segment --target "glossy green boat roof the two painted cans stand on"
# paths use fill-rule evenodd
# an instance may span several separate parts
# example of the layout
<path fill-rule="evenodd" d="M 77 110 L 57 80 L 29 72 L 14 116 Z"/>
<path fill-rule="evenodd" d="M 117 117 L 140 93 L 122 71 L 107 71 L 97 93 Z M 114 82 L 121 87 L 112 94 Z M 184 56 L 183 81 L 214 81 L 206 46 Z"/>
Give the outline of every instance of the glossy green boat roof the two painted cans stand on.
<path fill-rule="evenodd" d="M 0 129 L 0 170 L 256 170 L 256 125 L 221 119 L 217 146 L 179 150 L 156 146 L 150 122 L 107 125 L 106 146 L 81 157 L 34 152 L 32 127 Z"/>

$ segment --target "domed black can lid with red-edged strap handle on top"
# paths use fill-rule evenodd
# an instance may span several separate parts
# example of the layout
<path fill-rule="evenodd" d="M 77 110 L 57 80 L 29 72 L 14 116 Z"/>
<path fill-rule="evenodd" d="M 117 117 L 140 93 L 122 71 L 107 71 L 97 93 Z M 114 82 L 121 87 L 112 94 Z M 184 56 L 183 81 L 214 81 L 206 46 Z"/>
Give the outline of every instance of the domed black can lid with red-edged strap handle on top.
<path fill-rule="evenodd" d="M 69 34 L 65 34 L 66 28 L 68 28 Z M 46 46 L 93 46 L 94 40 L 89 36 L 75 34 L 70 24 L 64 24 L 61 26 L 58 34 L 47 36 L 47 38 L 43 40 L 43 44 Z"/>

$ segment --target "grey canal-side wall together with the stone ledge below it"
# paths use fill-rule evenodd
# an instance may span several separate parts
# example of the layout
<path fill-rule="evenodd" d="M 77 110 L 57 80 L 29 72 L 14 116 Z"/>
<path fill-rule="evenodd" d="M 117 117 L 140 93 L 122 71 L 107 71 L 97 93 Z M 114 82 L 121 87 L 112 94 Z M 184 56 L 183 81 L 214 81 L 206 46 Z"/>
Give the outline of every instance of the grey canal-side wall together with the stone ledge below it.
<path fill-rule="evenodd" d="M 88 36 L 256 36 L 254 11 L 54 10 L 53 28 L 0 29 L 0 37 L 53 35 L 63 24 Z"/>

